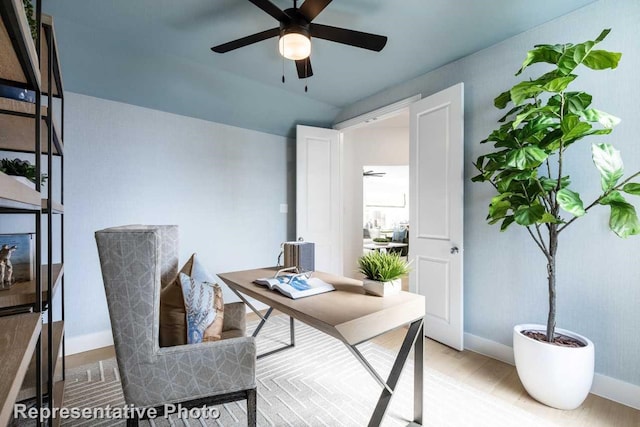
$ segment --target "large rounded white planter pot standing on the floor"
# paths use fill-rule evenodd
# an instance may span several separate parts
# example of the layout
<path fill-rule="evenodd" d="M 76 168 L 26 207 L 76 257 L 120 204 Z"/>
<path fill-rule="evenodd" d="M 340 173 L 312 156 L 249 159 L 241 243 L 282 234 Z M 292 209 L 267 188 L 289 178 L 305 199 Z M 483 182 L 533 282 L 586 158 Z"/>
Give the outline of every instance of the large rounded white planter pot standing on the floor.
<path fill-rule="evenodd" d="M 536 324 L 513 328 L 513 353 L 522 385 L 537 401 L 557 409 L 575 409 L 591 390 L 594 370 L 593 343 L 576 333 L 556 328 L 556 333 L 576 338 L 585 347 L 560 347 L 531 339 L 520 331 L 546 331 Z"/>

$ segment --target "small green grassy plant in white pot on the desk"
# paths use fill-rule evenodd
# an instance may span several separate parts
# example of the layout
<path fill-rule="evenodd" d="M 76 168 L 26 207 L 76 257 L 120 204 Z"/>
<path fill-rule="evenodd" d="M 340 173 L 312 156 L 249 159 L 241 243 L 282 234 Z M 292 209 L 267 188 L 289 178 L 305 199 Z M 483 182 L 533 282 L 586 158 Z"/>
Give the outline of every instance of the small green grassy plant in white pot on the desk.
<path fill-rule="evenodd" d="M 358 259 L 358 266 L 365 275 L 364 290 L 381 297 L 399 293 L 401 278 L 409 273 L 409 263 L 396 253 L 369 252 Z"/>

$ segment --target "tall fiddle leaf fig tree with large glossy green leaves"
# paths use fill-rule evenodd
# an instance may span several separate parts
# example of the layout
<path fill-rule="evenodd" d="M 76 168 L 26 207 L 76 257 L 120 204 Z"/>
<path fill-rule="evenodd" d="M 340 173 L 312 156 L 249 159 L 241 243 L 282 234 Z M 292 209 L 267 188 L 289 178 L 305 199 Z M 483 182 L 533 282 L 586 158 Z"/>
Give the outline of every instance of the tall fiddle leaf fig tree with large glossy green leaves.
<path fill-rule="evenodd" d="M 631 182 L 640 172 L 623 179 L 624 166 L 618 150 L 606 143 L 591 146 L 601 191 L 588 205 L 564 169 L 574 144 L 584 143 L 586 137 L 609 134 L 620 122 L 594 108 L 590 94 L 570 89 L 580 65 L 592 70 L 618 66 L 620 53 L 595 49 L 609 31 L 580 44 L 534 46 L 516 75 L 536 63 L 551 64 L 552 69 L 495 98 L 497 108 L 511 108 L 498 120 L 500 127 L 482 141 L 493 143 L 494 150 L 478 157 L 474 164 L 480 174 L 472 180 L 489 182 L 498 193 L 491 199 L 488 222 L 499 224 L 500 231 L 512 224 L 525 227 L 547 260 L 549 342 L 555 337 L 556 254 L 560 234 L 595 206 L 609 207 L 609 228 L 618 236 L 626 238 L 640 233 L 636 210 L 625 198 L 627 194 L 640 195 L 640 184 Z"/>

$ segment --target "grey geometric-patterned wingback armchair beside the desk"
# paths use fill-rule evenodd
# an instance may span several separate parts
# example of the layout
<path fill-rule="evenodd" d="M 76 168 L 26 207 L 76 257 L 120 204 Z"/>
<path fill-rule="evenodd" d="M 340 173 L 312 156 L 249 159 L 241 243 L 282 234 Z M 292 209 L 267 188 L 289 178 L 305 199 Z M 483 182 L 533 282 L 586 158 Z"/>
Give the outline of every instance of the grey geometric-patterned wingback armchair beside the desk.
<path fill-rule="evenodd" d="M 255 426 L 256 346 L 237 337 L 244 331 L 241 303 L 225 305 L 223 337 L 236 338 L 159 346 L 160 290 L 178 274 L 177 226 L 124 226 L 95 236 L 126 403 L 162 413 L 165 404 L 246 399 L 248 425 Z"/>

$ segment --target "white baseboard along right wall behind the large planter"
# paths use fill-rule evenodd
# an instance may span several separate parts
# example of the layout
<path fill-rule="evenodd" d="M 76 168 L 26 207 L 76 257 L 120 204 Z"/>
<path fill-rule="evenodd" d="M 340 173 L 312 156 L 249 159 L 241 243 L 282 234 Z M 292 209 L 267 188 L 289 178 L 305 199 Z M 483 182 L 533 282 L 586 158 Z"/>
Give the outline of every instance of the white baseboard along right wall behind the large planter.
<path fill-rule="evenodd" d="M 510 365 L 515 364 L 512 347 L 486 338 L 465 333 L 464 348 Z M 640 410 L 640 386 L 638 385 L 596 373 L 593 376 L 591 393 Z"/>

